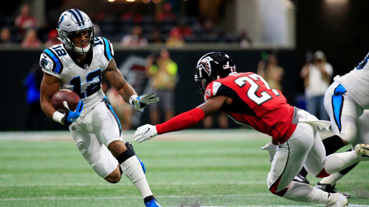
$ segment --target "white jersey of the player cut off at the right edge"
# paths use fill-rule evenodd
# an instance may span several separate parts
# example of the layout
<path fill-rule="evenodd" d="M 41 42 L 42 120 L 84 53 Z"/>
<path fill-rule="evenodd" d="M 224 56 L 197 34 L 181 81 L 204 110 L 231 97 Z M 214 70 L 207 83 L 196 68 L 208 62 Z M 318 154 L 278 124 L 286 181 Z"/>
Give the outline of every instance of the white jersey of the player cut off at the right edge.
<path fill-rule="evenodd" d="M 343 85 L 356 103 L 363 109 L 369 108 L 369 53 L 350 73 L 341 76 L 337 82 Z"/>

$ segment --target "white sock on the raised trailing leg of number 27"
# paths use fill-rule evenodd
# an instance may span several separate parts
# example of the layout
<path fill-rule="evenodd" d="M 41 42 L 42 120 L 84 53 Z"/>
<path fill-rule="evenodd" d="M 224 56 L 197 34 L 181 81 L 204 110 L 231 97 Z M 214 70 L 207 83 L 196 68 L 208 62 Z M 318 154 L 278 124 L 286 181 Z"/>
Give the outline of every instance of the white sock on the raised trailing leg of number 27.
<path fill-rule="evenodd" d="M 356 151 L 331 154 L 325 157 L 324 170 L 328 174 L 333 174 L 358 163 L 361 159 Z"/>

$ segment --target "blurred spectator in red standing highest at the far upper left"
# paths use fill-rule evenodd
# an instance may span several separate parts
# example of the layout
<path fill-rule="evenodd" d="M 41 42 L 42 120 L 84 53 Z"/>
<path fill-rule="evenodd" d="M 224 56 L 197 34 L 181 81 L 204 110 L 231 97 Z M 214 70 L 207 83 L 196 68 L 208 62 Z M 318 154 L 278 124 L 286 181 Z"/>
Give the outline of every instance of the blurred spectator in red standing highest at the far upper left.
<path fill-rule="evenodd" d="M 20 7 L 20 14 L 15 18 L 15 27 L 20 36 L 24 36 L 28 29 L 36 29 L 37 19 L 30 14 L 30 6 L 25 4 Z"/>

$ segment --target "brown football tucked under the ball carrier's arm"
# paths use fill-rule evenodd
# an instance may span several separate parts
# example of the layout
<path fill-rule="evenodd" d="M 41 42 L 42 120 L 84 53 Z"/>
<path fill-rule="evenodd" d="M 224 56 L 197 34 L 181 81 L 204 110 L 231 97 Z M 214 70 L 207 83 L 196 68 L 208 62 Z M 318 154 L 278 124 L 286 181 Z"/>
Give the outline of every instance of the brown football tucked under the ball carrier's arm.
<path fill-rule="evenodd" d="M 79 96 L 71 90 L 61 89 L 58 90 L 51 97 L 51 104 L 54 108 L 62 113 L 65 113 L 65 107 L 63 102 L 66 101 L 68 103 L 68 107 L 71 111 L 74 111 L 77 107 L 78 101 L 80 100 Z"/>

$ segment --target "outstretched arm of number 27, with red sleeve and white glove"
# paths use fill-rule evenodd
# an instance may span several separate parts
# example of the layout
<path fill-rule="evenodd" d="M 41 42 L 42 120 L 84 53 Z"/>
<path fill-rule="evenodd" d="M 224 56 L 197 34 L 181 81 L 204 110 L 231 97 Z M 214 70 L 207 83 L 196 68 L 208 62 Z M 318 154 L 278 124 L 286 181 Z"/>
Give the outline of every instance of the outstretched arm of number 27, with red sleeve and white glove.
<path fill-rule="evenodd" d="M 134 140 L 140 143 L 153 138 L 157 134 L 180 131 L 194 126 L 199 121 L 219 110 L 224 103 L 227 103 L 230 100 L 230 98 L 225 96 L 216 96 L 208 99 L 205 103 L 197 106 L 196 108 L 183 112 L 162 124 L 158 124 L 156 126 L 146 124 L 138 127 L 133 135 Z"/>

